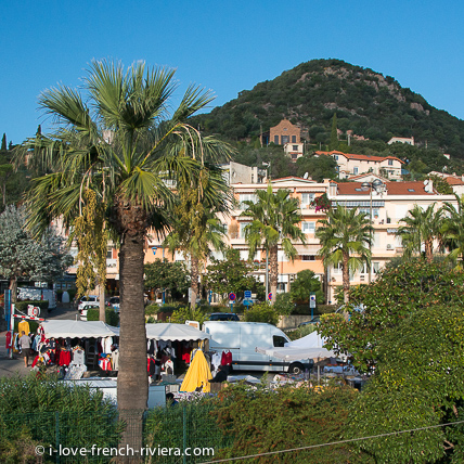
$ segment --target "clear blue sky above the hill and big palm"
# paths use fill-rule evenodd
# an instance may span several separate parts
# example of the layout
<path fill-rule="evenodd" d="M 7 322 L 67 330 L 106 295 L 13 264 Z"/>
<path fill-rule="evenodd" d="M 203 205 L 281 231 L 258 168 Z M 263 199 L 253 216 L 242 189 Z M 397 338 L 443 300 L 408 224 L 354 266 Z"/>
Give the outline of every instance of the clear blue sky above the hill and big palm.
<path fill-rule="evenodd" d="M 80 83 L 92 59 L 177 68 L 221 105 L 313 59 L 392 76 L 464 119 L 464 2 L 429 0 L 1 2 L 0 134 L 21 143 L 42 124 L 41 91 Z M 212 107 L 212 106 L 211 106 Z"/>

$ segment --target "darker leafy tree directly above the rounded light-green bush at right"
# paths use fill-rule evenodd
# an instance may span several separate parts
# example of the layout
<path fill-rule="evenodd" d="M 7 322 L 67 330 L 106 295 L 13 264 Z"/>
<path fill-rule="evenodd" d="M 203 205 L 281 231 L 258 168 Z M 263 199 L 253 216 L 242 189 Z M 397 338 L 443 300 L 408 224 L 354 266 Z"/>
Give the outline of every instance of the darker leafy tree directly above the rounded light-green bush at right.
<path fill-rule="evenodd" d="M 382 338 L 398 334 L 402 320 L 437 305 L 463 308 L 463 286 L 464 273 L 447 263 L 409 260 L 386 268 L 371 285 L 351 288 L 349 321 L 338 313 L 326 315 L 320 333 L 328 348 L 349 355 L 353 365 L 366 372 L 378 362 Z"/>

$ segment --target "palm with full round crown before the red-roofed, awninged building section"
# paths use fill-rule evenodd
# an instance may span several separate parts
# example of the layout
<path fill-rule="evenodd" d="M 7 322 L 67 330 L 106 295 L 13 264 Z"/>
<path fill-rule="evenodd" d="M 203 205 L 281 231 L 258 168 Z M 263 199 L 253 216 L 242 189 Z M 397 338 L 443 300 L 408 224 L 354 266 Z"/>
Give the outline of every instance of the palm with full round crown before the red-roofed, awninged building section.
<path fill-rule="evenodd" d="M 364 214 L 357 208 L 343 206 L 327 210 L 326 219 L 321 220 L 322 227 L 315 230 L 315 237 L 321 243 L 318 252 L 323 257 L 324 266 L 341 265 L 344 301 L 349 300 L 349 271 L 356 271 L 364 262 L 371 266 L 372 227 Z"/>

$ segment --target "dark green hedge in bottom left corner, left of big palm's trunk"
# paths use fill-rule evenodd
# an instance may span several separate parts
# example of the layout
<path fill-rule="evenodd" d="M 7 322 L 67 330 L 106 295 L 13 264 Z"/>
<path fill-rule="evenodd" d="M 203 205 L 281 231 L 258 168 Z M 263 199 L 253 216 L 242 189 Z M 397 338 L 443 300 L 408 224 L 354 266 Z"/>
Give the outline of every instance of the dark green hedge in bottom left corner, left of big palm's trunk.
<path fill-rule="evenodd" d="M 56 376 L 39 378 L 36 373 L 0 378 L 2 463 L 36 462 L 20 461 L 11 447 L 14 443 L 24 444 L 23 454 L 36 443 L 47 451 L 57 437 L 63 447 L 112 447 L 117 446 L 120 430 L 116 405 L 103 399 L 101 390 L 72 386 Z"/>

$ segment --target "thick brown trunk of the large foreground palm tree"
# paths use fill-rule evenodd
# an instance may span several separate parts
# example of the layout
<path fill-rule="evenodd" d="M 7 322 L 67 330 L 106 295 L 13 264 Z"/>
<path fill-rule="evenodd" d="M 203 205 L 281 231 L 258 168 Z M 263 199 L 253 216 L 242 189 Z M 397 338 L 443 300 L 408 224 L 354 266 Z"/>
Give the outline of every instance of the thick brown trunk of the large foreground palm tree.
<path fill-rule="evenodd" d="M 142 447 L 143 412 L 146 410 L 149 399 L 143 246 L 142 233 L 132 236 L 125 234 L 119 252 L 121 279 L 117 401 L 119 417 L 127 424 L 120 446 L 132 449 Z"/>

